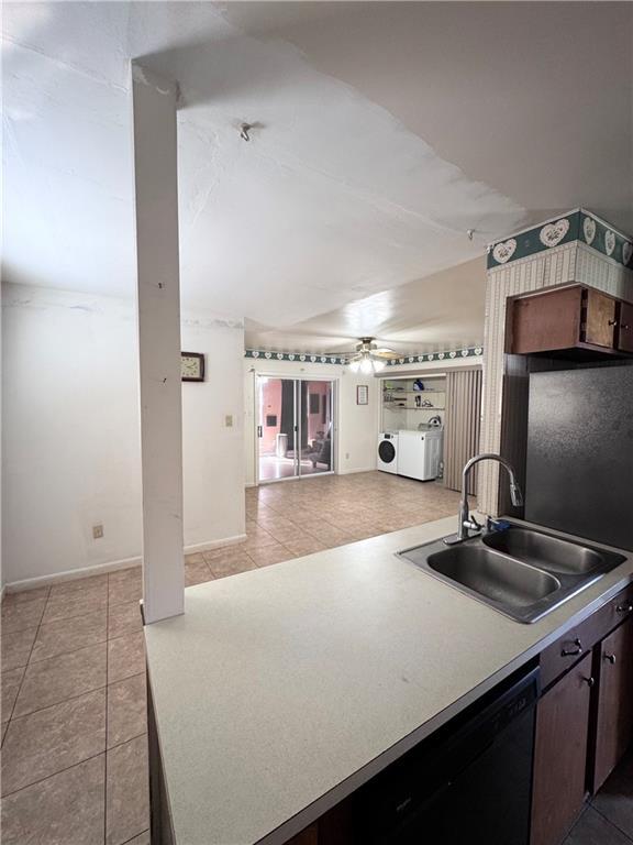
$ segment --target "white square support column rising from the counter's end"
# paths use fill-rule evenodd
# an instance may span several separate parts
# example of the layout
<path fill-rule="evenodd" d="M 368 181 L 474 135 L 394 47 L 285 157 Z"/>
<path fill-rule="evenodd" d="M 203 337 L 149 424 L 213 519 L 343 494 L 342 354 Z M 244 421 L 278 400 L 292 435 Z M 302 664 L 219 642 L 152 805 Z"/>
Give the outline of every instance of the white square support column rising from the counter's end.
<path fill-rule="evenodd" d="M 146 623 L 185 601 L 177 95 L 132 63 Z"/>

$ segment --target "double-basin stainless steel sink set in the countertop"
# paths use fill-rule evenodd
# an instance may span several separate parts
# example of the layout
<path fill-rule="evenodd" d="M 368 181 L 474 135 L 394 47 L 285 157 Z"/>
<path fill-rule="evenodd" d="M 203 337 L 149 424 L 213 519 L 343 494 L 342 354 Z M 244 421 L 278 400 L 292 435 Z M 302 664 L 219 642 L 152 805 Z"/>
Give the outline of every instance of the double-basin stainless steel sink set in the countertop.
<path fill-rule="evenodd" d="M 623 555 L 511 523 L 447 546 L 415 546 L 398 557 L 517 622 L 536 622 L 620 566 Z"/>

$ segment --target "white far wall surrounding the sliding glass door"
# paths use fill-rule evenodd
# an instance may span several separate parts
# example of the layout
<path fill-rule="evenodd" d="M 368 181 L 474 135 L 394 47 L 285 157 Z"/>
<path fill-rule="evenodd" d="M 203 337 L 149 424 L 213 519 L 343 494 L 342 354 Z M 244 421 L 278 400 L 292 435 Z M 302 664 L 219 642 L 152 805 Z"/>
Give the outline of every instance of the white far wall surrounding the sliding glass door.
<path fill-rule="evenodd" d="M 255 483 L 255 375 L 280 378 L 331 378 L 337 384 L 335 469 L 340 474 L 376 469 L 379 384 L 374 376 L 355 375 L 347 366 L 300 361 L 244 359 L 244 448 L 246 483 Z M 369 386 L 369 404 L 356 405 L 356 386 Z"/>

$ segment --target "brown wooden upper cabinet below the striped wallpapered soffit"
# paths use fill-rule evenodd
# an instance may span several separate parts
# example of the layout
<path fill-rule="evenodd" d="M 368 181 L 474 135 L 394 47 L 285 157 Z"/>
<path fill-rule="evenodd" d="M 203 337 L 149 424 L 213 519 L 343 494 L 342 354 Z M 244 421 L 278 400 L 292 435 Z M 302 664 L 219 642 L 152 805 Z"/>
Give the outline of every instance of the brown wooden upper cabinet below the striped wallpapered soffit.
<path fill-rule="evenodd" d="M 633 354 L 633 305 L 585 285 L 512 297 L 506 351 L 585 361 Z"/>

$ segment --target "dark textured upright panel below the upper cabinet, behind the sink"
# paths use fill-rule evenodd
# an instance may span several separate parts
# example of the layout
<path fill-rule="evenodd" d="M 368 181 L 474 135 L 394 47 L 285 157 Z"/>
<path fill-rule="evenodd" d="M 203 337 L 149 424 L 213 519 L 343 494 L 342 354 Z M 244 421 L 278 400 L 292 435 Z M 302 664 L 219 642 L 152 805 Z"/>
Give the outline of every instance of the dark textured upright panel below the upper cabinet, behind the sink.
<path fill-rule="evenodd" d="M 525 518 L 633 549 L 633 365 L 530 375 Z"/>

